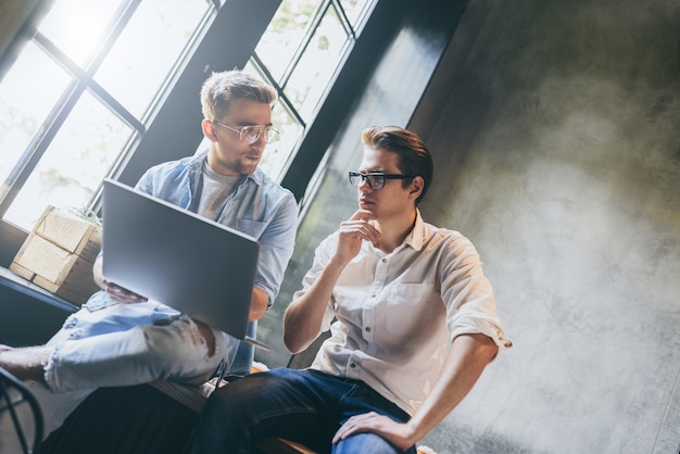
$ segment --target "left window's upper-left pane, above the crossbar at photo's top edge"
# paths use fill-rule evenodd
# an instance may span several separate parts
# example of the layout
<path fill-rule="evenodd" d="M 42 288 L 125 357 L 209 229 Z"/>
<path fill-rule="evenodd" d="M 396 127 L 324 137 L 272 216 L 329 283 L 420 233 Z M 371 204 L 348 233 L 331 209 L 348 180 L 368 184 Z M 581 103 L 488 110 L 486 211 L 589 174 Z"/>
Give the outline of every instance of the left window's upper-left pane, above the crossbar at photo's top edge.
<path fill-rule="evenodd" d="M 59 0 L 39 26 L 40 33 L 85 67 L 121 1 Z"/>

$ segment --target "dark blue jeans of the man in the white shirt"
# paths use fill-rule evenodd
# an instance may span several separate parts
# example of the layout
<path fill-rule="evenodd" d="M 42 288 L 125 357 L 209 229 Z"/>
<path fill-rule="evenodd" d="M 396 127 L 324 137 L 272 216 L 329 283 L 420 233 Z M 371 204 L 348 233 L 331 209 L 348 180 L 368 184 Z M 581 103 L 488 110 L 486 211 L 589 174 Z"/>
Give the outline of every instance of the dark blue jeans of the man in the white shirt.
<path fill-rule="evenodd" d="M 398 421 L 410 418 L 357 380 L 288 368 L 253 374 L 213 392 L 199 420 L 193 453 L 248 454 L 252 442 L 272 436 L 318 453 L 402 453 L 375 433 L 357 433 L 331 445 L 345 420 L 368 412 Z M 416 449 L 405 452 L 415 454 Z"/>

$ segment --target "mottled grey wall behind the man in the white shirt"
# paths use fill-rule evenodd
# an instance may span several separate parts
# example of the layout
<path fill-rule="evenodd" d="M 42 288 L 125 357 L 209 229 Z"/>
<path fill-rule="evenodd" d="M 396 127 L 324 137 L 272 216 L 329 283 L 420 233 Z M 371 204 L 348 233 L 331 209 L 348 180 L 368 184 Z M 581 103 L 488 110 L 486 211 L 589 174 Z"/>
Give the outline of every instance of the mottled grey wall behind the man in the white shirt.
<path fill-rule="evenodd" d="M 436 163 L 424 217 L 477 245 L 515 343 L 423 443 L 677 454 L 680 2 L 471 0 L 413 116 L 401 74 L 331 150 L 289 280 L 356 206 L 361 128 L 408 126 Z"/>

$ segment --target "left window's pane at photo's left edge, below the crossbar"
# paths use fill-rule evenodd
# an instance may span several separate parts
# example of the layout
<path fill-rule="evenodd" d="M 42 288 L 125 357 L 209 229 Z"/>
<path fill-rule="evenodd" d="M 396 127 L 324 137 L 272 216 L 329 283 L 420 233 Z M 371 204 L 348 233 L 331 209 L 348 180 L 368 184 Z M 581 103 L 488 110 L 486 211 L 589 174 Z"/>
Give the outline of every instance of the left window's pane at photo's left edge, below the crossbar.
<path fill-rule="evenodd" d="M 0 84 L 0 181 L 7 184 L 10 172 L 68 81 L 66 73 L 45 52 L 33 42 L 26 43 Z"/>

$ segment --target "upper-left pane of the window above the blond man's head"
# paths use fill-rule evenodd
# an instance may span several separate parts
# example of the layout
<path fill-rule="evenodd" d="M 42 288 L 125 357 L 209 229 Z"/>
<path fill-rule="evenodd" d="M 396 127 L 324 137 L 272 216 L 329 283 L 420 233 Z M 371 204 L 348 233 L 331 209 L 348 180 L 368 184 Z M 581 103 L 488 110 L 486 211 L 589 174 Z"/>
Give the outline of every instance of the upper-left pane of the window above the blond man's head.
<path fill-rule="evenodd" d="M 318 0 L 284 0 L 260 39 L 255 52 L 279 83 L 300 48 Z"/>

